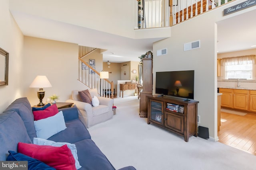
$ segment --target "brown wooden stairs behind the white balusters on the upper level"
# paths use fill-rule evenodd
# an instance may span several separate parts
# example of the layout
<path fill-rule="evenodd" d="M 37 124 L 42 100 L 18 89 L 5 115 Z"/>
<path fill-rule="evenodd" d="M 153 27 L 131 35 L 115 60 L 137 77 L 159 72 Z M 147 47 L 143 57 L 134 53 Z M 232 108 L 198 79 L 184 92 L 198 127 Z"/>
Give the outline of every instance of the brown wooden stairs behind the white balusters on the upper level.
<path fill-rule="evenodd" d="M 207 0 L 202 0 L 202 13 L 212 9 L 212 1 L 208 0 L 208 10 L 206 10 L 207 9 L 206 6 L 207 6 Z M 196 14 L 196 10 L 197 10 L 197 14 Z M 192 5 L 192 16 L 191 16 L 191 6 L 188 6 L 188 8 L 184 8 L 179 12 L 176 12 L 175 14 L 176 23 L 185 21 L 199 14 L 201 14 L 201 1 L 198 1 L 197 3 Z M 184 20 L 182 20 L 182 16 L 184 17 Z"/>

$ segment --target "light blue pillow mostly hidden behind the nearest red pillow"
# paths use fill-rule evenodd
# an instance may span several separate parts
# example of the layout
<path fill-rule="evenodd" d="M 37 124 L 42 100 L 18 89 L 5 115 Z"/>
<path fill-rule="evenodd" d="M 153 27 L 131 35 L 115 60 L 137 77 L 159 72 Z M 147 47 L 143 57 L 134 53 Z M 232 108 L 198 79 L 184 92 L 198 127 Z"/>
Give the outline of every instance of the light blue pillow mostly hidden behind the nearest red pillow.
<path fill-rule="evenodd" d="M 48 146 L 53 146 L 53 147 L 62 147 L 63 145 L 67 145 L 68 148 L 71 150 L 72 155 L 74 156 L 74 159 L 76 161 L 76 169 L 78 170 L 82 166 L 80 166 L 78 162 L 78 156 L 77 156 L 77 151 L 76 151 L 76 145 L 72 143 L 67 143 L 67 142 L 54 142 L 42 138 L 35 138 L 33 139 L 33 143 L 36 145 L 48 145 Z"/>

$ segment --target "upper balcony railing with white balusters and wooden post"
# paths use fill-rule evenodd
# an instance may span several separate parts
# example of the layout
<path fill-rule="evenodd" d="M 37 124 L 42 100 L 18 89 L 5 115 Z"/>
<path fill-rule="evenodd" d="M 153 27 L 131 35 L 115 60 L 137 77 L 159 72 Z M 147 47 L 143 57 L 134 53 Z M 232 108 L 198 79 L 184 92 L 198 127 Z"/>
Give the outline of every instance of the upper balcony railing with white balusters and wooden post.
<path fill-rule="evenodd" d="M 168 27 L 226 4 L 231 0 L 136 0 L 136 27 Z"/>

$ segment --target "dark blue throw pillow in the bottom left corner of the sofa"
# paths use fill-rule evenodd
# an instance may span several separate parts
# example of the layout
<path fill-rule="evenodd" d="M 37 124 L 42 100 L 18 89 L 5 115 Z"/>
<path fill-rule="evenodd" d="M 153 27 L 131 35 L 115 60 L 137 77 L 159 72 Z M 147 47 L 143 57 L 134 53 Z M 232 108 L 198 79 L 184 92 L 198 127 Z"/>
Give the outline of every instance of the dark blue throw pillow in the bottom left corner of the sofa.
<path fill-rule="evenodd" d="M 6 160 L 10 161 L 28 161 L 28 170 L 56 170 L 55 168 L 52 168 L 48 165 L 46 165 L 44 162 L 41 162 L 40 160 L 31 158 L 30 156 L 26 156 L 21 153 L 14 152 L 12 150 L 8 151 L 10 154 L 6 158 Z"/>

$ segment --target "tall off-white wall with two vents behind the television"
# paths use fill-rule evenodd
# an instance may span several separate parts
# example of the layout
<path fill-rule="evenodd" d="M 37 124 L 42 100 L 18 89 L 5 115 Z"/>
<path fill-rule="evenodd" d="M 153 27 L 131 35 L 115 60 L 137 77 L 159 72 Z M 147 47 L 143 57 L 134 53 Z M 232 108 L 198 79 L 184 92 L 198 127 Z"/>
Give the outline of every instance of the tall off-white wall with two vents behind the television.
<path fill-rule="evenodd" d="M 256 9 L 256 6 L 223 16 L 223 10 L 242 2 L 236 0 L 226 6 L 194 17 L 171 27 L 172 37 L 153 45 L 153 53 L 167 48 L 168 55 L 154 57 L 153 81 L 159 71 L 195 70 L 194 100 L 199 101 L 199 125 L 208 127 L 210 137 L 217 136 L 217 24 L 216 22 Z M 238 23 L 239 24 L 239 23 Z M 201 48 L 184 51 L 184 43 L 201 41 Z M 155 83 L 153 83 L 153 89 Z"/>

